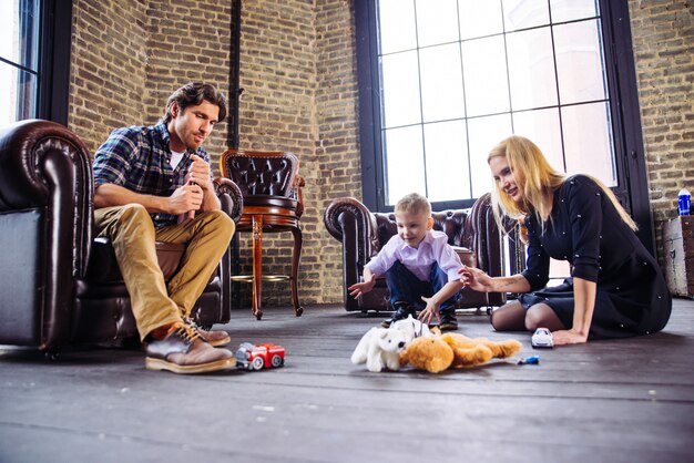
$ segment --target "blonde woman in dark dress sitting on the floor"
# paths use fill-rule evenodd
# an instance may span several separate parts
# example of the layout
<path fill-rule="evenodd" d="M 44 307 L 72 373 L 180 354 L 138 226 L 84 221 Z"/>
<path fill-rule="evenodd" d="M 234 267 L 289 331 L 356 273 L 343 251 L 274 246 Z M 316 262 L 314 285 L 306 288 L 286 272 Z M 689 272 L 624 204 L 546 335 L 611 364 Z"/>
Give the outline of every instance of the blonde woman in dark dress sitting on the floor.
<path fill-rule="evenodd" d="M 502 141 L 488 163 L 497 220 L 507 215 L 522 219 L 528 229 L 522 274 L 492 278 L 479 269 L 460 270 L 461 281 L 474 290 L 523 292 L 494 310 L 494 329 L 549 328 L 554 344 L 663 329 L 672 308 L 665 279 L 609 188 L 585 175 L 555 172 L 540 148 L 521 136 Z M 550 257 L 572 265 L 573 284 L 525 294 L 547 285 Z"/>

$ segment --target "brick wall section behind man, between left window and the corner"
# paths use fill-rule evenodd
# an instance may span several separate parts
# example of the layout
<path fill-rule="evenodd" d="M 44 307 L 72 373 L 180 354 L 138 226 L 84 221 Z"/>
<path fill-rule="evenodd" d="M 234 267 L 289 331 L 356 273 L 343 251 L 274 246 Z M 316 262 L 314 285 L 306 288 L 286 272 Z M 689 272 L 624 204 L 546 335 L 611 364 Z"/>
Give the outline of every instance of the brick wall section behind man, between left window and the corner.
<path fill-rule="evenodd" d="M 69 125 L 93 152 L 114 127 L 144 123 L 146 9 L 75 0 Z"/>

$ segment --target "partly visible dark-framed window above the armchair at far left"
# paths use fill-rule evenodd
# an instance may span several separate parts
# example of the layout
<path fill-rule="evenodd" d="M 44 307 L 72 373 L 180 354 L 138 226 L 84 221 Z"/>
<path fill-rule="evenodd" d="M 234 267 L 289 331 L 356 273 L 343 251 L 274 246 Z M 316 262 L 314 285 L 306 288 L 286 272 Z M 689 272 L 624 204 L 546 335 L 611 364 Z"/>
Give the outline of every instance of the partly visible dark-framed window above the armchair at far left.
<path fill-rule="evenodd" d="M 0 1 L 0 126 L 67 123 L 71 16 L 70 0 Z"/>

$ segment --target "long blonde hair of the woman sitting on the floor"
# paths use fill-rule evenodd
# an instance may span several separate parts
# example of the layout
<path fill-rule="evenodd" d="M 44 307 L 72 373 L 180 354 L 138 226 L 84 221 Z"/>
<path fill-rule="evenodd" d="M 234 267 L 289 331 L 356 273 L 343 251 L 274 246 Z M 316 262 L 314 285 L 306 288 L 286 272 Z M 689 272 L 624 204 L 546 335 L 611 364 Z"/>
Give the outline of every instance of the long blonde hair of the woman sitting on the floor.
<path fill-rule="evenodd" d="M 503 140 L 494 146 L 487 162 L 493 157 L 506 157 L 509 167 L 513 173 L 516 185 L 523 191 L 523 202 L 517 203 L 511 196 L 501 189 L 499 182 L 496 182 L 491 192 L 491 200 L 497 223 L 501 227 L 501 217 L 503 215 L 511 218 L 523 220 L 529 214 L 535 214 L 538 220 L 542 222 L 542 217 L 548 217 L 551 205 L 545 204 L 544 197 L 559 189 L 567 181 L 567 176 L 554 171 L 547 162 L 547 158 L 534 143 L 530 140 L 512 135 Z M 634 220 L 626 214 L 614 193 L 608 188 L 598 178 L 589 175 L 589 177 L 600 186 L 603 193 L 610 198 L 610 202 L 619 213 L 622 220 L 632 229 L 636 230 L 637 226 Z"/>

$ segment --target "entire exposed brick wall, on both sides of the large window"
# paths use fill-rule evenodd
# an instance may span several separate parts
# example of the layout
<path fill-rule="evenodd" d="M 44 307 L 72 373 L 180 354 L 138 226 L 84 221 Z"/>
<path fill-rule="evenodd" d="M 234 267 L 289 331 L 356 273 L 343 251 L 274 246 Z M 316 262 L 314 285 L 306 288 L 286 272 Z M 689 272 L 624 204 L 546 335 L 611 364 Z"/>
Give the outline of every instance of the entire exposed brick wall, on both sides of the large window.
<path fill-rule="evenodd" d="M 341 300 L 341 249 L 323 213 L 335 197 L 361 196 L 353 3 L 243 1 L 239 145 L 299 157 L 304 305 Z M 630 9 L 650 194 L 662 219 L 674 214 L 685 179 L 694 191 L 693 13 L 671 0 L 630 0 Z M 185 82 L 228 93 L 231 13 L 228 0 L 74 0 L 70 126 L 93 151 L 113 127 L 156 122 Z M 227 135 L 222 124 L 206 143 L 213 158 Z M 265 235 L 264 271 L 288 274 L 284 235 Z M 246 237 L 241 258 L 249 272 Z M 242 286 L 244 307 L 249 292 Z M 263 303 L 288 305 L 286 282 L 264 285 Z"/>

